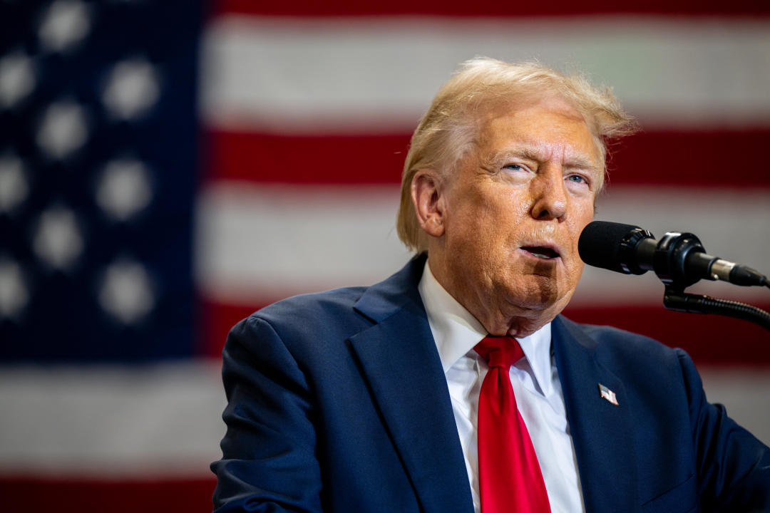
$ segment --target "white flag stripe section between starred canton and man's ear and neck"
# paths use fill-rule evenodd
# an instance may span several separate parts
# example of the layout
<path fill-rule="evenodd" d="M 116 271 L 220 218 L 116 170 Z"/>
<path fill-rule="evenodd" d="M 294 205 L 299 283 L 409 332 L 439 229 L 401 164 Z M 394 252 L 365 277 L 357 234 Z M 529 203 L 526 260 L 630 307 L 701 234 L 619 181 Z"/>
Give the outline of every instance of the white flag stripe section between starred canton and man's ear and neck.
<path fill-rule="evenodd" d="M 396 235 L 397 185 L 218 181 L 200 197 L 199 289 L 228 303 L 371 285 L 410 255 Z"/>

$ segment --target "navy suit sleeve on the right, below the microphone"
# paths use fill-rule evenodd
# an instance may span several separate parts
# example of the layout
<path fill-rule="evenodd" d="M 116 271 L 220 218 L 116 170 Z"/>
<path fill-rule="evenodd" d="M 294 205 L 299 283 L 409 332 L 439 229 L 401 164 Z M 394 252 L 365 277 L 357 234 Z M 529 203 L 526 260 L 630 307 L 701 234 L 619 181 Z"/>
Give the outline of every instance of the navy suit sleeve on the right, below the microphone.
<path fill-rule="evenodd" d="M 689 356 L 677 350 L 688 388 L 703 511 L 770 511 L 770 448 L 706 401 Z"/>

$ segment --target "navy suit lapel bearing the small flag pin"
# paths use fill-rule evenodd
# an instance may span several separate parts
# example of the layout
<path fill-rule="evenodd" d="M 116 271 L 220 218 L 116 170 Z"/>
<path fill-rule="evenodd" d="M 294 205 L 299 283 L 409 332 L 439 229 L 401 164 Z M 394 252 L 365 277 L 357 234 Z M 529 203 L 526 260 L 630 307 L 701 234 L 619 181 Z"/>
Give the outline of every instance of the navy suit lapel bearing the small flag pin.
<path fill-rule="evenodd" d="M 601 365 L 595 342 L 577 325 L 558 317 L 552 328 L 586 511 L 637 511 L 632 405 L 623 382 Z M 601 397 L 600 384 L 618 405 Z"/>

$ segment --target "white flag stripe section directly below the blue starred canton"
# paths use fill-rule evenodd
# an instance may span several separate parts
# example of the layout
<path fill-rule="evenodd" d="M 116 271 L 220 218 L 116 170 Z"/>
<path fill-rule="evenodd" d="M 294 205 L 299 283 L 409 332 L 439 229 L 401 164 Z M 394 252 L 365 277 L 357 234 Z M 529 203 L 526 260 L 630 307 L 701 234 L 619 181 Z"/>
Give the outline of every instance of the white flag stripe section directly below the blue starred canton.
<path fill-rule="evenodd" d="M 221 362 L 0 368 L 0 475 L 209 477 Z"/>

